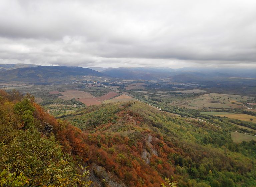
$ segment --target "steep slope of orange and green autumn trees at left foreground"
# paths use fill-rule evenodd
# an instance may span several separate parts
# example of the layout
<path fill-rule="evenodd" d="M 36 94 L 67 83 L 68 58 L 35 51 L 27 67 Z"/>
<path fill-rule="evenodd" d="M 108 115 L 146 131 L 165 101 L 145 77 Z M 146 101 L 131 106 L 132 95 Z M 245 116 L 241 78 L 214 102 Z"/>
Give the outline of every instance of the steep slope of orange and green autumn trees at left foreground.
<path fill-rule="evenodd" d="M 0 186 L 88 186 L 81 134 L 43 112 L 31 95 L 0 90 Z"/>

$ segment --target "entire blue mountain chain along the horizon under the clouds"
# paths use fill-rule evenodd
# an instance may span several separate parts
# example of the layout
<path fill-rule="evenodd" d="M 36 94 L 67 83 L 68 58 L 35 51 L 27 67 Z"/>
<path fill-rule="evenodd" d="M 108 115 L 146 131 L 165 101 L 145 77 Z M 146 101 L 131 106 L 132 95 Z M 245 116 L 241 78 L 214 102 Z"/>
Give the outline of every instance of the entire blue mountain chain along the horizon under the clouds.
<path fill-rule="evenodd" d="M 256 69 L 243 68 L 82 68 L 67 66 L 38 66 L 34 64 L 0 64 L 0 68 L 1 82 L 70 82 L 71 80 L 75 80 L 78 77 L 81 78 L 82 76 L 118 78 L 123 80 L 163 80 L 186 82 L 225 80 L 230 77 L 256 78 Z"/>

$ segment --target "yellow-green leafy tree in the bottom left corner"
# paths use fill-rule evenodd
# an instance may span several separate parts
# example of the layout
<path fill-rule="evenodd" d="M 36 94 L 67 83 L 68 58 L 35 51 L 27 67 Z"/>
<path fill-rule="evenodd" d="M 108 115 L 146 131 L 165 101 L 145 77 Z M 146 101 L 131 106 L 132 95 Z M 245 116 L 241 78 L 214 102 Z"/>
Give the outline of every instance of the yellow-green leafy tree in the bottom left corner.
<path fill-rule="evenodd" d="M 62 153 L 54 136 L 42 137 L 35 128 L 19 130 L 8 144 L 0 144 L 0 186 L 87 187 L 89 171 L 77 169 L 72 158 Z"/>

